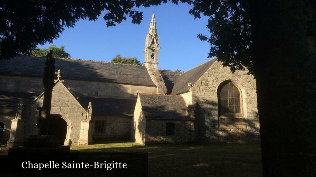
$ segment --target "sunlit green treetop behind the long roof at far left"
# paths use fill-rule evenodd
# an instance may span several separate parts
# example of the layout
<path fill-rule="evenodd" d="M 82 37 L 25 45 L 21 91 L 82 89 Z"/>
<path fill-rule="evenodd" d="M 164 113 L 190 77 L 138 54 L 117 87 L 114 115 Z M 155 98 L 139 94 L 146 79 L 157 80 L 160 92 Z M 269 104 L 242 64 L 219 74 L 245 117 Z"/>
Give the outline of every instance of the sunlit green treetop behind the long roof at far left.
<path fill-rule="evenodd" d="M 60 48 L 56 47 L 55 44 L 51 45 L 48 47 L 48 49 L 43 48 L 37 48 L 35 50 L 32 51 L 33 55 L 40 55 L 40 56 L 46 56 L 47 53 L 49 53 L 49 51 L 52 50 L 53 51 L 53 56 L 54 57 L 60 57 L 60 58 L 70 58 L 70 54 L 67 53 L 65 51 L 65 46 L 60 46 Z"/>

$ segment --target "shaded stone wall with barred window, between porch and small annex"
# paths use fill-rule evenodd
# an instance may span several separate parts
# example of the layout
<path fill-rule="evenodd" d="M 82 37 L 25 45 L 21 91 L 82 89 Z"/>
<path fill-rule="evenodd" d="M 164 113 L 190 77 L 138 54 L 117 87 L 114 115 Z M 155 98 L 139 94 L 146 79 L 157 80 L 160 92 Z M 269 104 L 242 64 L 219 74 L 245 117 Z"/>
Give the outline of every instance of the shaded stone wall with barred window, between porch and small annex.
<path fill-rule="evenodd" d="M 93 117 L 93 120 L 105 122 L 104 133 L 93 131 L 93 140 L 131 140 L 130 117 Z"/>

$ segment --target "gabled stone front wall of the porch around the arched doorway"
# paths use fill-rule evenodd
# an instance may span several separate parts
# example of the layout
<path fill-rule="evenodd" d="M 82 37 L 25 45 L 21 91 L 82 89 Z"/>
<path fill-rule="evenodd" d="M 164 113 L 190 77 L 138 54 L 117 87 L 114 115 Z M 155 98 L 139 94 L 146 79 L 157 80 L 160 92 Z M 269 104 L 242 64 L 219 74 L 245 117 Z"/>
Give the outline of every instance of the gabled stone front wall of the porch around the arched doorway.
<path fill-rule="evenodd" d="M 25 138 L 32 134 L 38 134 L 35 126 L 38 118 L 36 109 L 43 105 L 43 99 L 44 97 L 41 96 L 23 111 Z M 80 136 L 81 121 L 87 119 L 87 112 L 60 82 L 52 90 L 51 114 L 59 115 L 66 121 L 69 127 L 66 139 L 69 139 L 72 145 L 76 145 Z"/>

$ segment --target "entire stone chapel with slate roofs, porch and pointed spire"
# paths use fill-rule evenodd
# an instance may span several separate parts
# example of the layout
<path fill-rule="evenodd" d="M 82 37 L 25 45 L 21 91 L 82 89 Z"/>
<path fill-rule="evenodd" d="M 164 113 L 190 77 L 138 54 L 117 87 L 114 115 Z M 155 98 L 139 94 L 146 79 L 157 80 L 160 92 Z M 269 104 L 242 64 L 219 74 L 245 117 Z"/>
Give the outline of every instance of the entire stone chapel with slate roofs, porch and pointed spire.
<path fill-rule="evenodd" d="M 232 73 L 216 58 L 183 73 L 158 70 L 159 49 L 153 14 L 144 66 L 56 58 L 49 134 L 61 145 L 260 141 L 256 82 L 247 70 Z M 2 144 L 21 146 L 38 133 L 45 61 L 20 55 L 1 63 Z"/>

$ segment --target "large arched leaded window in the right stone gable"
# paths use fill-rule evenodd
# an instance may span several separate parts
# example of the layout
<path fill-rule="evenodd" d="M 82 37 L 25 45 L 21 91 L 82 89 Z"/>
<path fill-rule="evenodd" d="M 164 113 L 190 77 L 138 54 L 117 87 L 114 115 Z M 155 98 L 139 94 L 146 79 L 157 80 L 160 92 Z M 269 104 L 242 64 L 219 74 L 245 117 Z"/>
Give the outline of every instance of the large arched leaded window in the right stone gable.
<path fill-rule="evenodd" d="M 220 116 L 224 114 L 241 116 L 243 109 L 240 89 L 232 82 L 223 83 L 219 89 Z"/>

